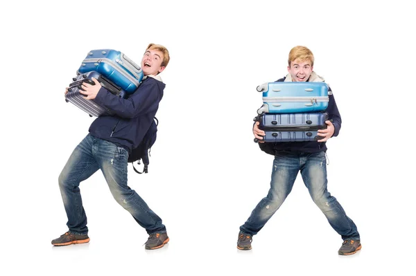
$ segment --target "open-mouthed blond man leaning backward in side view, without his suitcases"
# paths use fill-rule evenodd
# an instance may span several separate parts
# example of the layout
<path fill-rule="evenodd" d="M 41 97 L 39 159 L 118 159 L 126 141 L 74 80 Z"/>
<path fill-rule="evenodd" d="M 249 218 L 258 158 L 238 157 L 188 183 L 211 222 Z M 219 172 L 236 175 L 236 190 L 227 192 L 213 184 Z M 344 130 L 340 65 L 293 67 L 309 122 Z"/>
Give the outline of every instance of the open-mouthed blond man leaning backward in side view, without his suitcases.
<path fill-rule="evenodd" d="M 79 185 L 98 169 L 114 199 L 128 210 L 139 225 L 150 235 L 146 249 L 156 249 L 169 241 L 166 227 L 146 202 L 127 185 L 128 155 L 139 145 L 150 127 L 162 100 L 165 84 L 159 73 L 169 62 L 168 50 L 157 44 L 149 44 L 141 59 L 144 78 L 137 91 L 127 99 L 113 95 L 99 84 L 83 84 L 81 91 L 86 99 L 93 100 L 115 113 L 114 116 L 96 118 L 89 127 L 89 134 L 73 150 L 59 176 L 59 187 L 67 212 L 68 232 L 54 239 L 54 246 L 89 241 L 87 216 L 83 208 Z"/>

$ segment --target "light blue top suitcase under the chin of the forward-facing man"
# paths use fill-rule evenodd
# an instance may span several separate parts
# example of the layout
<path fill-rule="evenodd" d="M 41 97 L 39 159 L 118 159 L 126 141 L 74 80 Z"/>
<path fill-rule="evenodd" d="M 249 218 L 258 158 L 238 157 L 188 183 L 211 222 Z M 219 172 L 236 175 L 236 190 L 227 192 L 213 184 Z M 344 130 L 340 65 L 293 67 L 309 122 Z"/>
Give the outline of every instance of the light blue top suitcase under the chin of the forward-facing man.
<path fill-rule="evenodd" d="M 266 82 L 257 86 L 263 92 L 262 113 L 304 113 L 328 107 L 328 85 L 324 82 Z"/>

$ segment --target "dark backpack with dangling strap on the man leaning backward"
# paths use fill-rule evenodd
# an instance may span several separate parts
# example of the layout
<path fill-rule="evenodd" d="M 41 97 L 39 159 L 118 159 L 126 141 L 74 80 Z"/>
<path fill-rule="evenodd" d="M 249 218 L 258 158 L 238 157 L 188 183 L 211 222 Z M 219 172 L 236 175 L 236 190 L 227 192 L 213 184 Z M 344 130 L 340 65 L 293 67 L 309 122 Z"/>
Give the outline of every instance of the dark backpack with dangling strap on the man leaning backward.
<path fill-rule="evenodd" d="M 132 163 L 133 169 L 135 169 L 135 172 L 137 172 L 137 174 L 148 173 L 150 147 L 152 147 L 156 141 L 157 125 L 159 125 L 159 121 L 155 117 L 155 120 L 153 120 L 152 125 L 150 125 L 148 131 L 144 135 L 144 138 L 141 140 L 140 144 L 134 149 L 132 149 L 132 152 L 128 156 L 128 162 Z M 139 172 L 135 168 L 134 162 L 137 161 L 137 164 L 140 165 L 140 160 L 143 160 L 143 172 Z"/>

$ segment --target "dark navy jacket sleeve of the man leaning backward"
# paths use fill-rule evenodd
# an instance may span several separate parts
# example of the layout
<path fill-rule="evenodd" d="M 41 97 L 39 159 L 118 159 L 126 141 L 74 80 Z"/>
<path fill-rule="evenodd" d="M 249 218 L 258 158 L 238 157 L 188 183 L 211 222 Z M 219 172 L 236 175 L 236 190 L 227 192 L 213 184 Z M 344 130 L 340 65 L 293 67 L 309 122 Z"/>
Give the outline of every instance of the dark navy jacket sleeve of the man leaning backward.
<path fill-rule="evenodd" d="M 142 82 L 135 93 L 127 99 L 113 95 L 107 89 L 101 87 L 95 101 L 121 118 L 135 118 L 157 110 L 160 101 L 159 87 L 157 83 L 152 81 Z"/>

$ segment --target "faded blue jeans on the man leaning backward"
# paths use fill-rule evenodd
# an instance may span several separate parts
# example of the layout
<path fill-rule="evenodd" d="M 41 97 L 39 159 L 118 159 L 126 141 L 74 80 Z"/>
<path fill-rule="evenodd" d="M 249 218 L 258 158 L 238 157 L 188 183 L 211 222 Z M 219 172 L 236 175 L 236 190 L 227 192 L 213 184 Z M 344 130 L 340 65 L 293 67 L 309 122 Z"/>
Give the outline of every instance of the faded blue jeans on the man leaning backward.
<path fill-rule="evenodd" d="M 128 151 L 112 142 L 87 135 L 73 150 L 67 165 L 59 176 L 59 187 L 67 212 L 69 231 L 87 234 L 87 216 L 80 194 L 80 182 L 92 176 L 98 169 L 114 199 L 128 210 L 148 234 L 166 232 L 165 226 L 146 202 L 127 185 Z"/>

